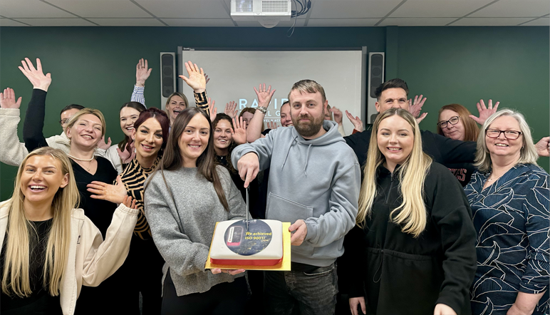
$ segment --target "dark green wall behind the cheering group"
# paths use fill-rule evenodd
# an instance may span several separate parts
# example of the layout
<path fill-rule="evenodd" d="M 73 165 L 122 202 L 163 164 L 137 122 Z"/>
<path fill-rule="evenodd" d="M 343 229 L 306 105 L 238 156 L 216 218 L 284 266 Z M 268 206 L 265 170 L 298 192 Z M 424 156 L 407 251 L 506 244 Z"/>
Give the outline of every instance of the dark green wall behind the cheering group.
<path fill-rule="evenodd" d="M 0 88 L 14 88 L 26 103 L 32 86 L 17 66 L 41 58 L 51 72 L 44 135 L 61 133 L 59 110 L 78 103 L 103 111 L 107 135 L 121 140 L 118 108 L 129 100 L 135 63 L 147 58 L 148 106 L 160 107 L 159 52 L 177 46 L 212 48 L 331 48 L 368 46 L 385 51 L 387 78 L 408 81 L 410 95 L 427 96 L 422 128 L 435 130 L 437 110 L 461 103 L 475 110 L 480 98 L 499 100 L 526 115 L 535 140 L 549 134 L 549 28 L 547 27 L 365 27 L 176 28 L 176 27 L 1 27 Z M 333 69 L 327 65 L 327 71 Z M 267 80 L 268 78 L 266 78 Z M 223 80 L 223 78 L 212 78 Z M 221 100 L 222 101 L 222 100 Z M 21 137 L 22 123 L 19 136 Z M 549 170 L 547 158 L 539 160 Z M 16 167 L 0 165 L 0 200 L 11 195 Z"/>

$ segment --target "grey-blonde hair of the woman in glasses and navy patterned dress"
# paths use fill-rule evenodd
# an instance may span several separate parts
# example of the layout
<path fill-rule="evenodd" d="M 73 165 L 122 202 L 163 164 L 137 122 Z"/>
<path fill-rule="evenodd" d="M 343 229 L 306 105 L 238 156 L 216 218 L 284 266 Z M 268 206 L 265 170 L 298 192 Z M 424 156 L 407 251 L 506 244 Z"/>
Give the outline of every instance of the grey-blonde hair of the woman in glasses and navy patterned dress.
<path fill-rule="evenodd" d="M 477 151 L 475 153 L 474 166 L 480 172 L 489 172 L 491 170 L 491 155 L 489 154 L 489 149 L 487 148 L 487 142 L 485 141 L 485 130 L 487 130 L 494 120 L 502 116 L 511 116 L 517 120 L 519 123 L 519 131 L 522 132 L 523 145 L 519 150 L 519 160 L 516 164 L 534 164 L 536 165 L 536 160 L 539 159 L 539 154 L 536 153 L 536 147 L 533 143 L 533 138 L 531 137 L 531 128 L 527 125 L 527 121 L 524 118 L 522 113 L 519 113 L 516 110 L 503 109 L 497 111 L 485 120 L 485 123 L 482 125 L 482 132 L 479 133 L 477 137 Z"/>

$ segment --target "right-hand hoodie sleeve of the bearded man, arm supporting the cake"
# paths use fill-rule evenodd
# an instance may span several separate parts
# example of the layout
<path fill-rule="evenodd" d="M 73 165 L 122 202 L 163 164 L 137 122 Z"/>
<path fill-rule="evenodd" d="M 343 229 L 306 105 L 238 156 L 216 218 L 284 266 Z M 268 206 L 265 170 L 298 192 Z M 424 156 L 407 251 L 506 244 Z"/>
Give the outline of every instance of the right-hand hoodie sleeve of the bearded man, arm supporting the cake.
<path fill-rule="evenodd" d="M 330 210 L 321 217 L 305 220 L 308 234 L 304 242 L 313 247 L 323 247 L 343 238 L 356 224 L 360 190 L 360 167 L 353 157 L 353 164 L 336 174 L 328 200 Z"/>

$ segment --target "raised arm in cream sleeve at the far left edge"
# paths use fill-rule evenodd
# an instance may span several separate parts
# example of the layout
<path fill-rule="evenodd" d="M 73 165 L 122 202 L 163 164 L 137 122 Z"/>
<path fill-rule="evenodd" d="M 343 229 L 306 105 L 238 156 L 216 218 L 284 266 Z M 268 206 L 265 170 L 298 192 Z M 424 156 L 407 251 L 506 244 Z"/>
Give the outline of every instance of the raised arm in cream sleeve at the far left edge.
<path fill-rule="evenodd" d="M 14 89 L 6 88 L 0 93 L 0 162 L 19 166 L 28 154 L 24 143 L 19 142 L 17 125 L 19 125 L 19 107 L 21 97 L 16 100 Z"/>

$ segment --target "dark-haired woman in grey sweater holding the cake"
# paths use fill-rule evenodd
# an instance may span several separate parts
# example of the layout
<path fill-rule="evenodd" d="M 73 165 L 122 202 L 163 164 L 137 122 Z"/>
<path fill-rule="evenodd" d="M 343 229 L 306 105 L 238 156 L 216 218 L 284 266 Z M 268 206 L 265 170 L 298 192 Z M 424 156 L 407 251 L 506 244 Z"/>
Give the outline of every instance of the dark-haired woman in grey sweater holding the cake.
<path fill-rule="evenodd" d="M 166 262 L 161 314 L 244 311 L 244 270 L 204 269 L 216 222 L 244 219 L 247 211 L 227 169 L 216 166 L 213 143 L 207 114 L 183 110 L 145 185 L 145 216 Z"/>

